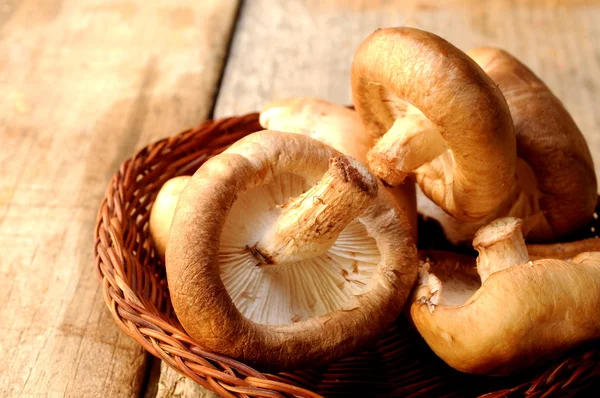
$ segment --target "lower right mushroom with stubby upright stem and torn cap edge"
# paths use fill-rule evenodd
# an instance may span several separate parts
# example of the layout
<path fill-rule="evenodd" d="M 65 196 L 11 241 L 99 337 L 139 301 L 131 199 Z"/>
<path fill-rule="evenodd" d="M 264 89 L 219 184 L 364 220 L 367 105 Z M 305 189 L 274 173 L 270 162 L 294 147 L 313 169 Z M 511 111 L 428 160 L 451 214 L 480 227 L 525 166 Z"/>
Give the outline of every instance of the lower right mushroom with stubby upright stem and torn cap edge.
<path fill-rule="evenodd" d="M 600 253 L 529 261 L 520 220 L 499 219 L 475 259 L 423 254 L 411 317 L 431 349 L 467 373 L 506 375 L 600 337 Z"/>

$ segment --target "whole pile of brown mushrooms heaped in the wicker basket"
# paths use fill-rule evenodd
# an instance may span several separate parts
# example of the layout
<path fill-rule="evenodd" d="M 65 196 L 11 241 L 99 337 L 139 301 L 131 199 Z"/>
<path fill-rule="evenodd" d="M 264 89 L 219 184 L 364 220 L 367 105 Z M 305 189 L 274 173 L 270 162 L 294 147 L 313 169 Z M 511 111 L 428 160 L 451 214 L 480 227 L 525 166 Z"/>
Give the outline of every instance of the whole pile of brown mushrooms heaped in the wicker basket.
<path fill-rule="evenodd" d="M 600 337 L 600 244 L 560 242 L 597 217 L 596 176 L 544 83 L 412 28 L 369 36 L 351 75 L 356 111 L 272 102 L 265 130 L 158 193 L 150 234 L 186 332 L 284 370 L 348 355 L 408 309 L 446 363 L 495 375 Z M 479 257 L 417 254 L 417 197 Z"/>

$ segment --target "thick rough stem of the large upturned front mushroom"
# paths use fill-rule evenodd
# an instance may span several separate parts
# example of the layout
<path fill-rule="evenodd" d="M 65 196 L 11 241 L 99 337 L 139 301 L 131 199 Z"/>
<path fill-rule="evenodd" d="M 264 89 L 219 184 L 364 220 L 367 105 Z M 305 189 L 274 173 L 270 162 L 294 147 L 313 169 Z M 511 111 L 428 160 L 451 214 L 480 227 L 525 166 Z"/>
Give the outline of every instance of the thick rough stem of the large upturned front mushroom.
<path fill-rule="evenodd" d="M 321 181 L 281 206 L 281 214 L 248 250 L 263 264 L 300 261 L 325 253 L 377 196 L 377 179 L 349 156 L 329 161 Z"/>

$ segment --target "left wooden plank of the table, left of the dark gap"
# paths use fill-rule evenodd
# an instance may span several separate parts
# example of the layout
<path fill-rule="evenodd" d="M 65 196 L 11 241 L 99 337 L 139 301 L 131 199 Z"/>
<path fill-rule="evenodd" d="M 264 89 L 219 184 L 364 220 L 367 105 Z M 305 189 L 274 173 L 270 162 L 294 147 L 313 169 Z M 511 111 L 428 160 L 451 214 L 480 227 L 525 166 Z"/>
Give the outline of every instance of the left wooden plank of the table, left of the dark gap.
<path fill-rule="evenodd" d="M 237 0 L 0 5 L 0 396 L 137 396 L 92 272 L 104 189 L 211 112 Z"/>

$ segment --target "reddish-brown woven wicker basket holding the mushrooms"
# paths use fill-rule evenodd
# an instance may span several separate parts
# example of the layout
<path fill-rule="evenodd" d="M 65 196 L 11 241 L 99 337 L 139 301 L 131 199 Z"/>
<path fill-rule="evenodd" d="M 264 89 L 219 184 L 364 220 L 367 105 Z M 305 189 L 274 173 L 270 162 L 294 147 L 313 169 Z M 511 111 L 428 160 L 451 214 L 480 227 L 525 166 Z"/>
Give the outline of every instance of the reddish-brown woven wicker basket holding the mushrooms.
<path fill-rule="evenodd" d="M 164 267 L 148 237 L 149 209 L 158 189 L 167 179 L 191 175 L 210 156 L 258 130 L 261 128 L 257 113 L 208 120 L 195 128 L 149 144 L 123 161 L 107 186 L 98 209 L 94 233 L 95 272 L 102 285 L 105 303 L 119 328 L 149 353 L 205 388 L 226 397 L 319 397 L 321 395 L 311 390 L 317 381 L 320 381 L 323 393 L 333 388 L 327 384 L 330 380 L 323 379 L 319 370 L 278 375 L 260 372 L 252 366 L 203 349 L 188 336 L 170 307 Z M 389 343 L 385 346 L 386 350 L 396 346 L 402 349 L 403 342 L 398 342 L 398 334 L 394 334 L 399 327 L 394 326 L 382 337 L 381 344 Z M 386 351 L 381 355 L 385 357 L 387 354 Z M 361 358 L 346 358 L 330 366 L 328 374 L 338 372 L 338 376 L 344 376 L 344 369 L 346 373 L 352 367 L 359 369 L 365 362 Z M 486 396 L 514 393 L 551 395 L 586 387 L 597 383 L 598 379 L 600 344 L 594 341 L 535 373 L 531 379 L 515 379 L 514 385 L 500 385 L 501 388 L 488 391 Z M 414 393 L 419 388 L 418 391 L 427 394 L 432 386 L 439 387 L 441 383 L 436 377 L 429 377 L 429 382 L 427 385 L 419 379 L 410 386 L 412 390 L 406 391 Z M 385 389 L 386 386 L 386 382 L 382 382 L 380 387 Z M 399 391 L 394 390 L 395 393 Z"/>

